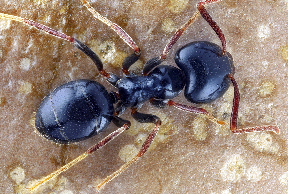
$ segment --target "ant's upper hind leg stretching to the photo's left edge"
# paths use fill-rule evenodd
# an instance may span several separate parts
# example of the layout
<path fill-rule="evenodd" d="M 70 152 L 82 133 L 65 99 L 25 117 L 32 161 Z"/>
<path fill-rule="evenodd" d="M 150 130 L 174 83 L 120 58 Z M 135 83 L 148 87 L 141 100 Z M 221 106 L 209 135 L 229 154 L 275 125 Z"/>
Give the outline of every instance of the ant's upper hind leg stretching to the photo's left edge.
<path fill-rule="evenodd" d="M 47 26 L 44 26 L 43 24 L 39 24 L 37 22 L 34 22 L 30 19 L 27 18 L 20 18 L 17 16 L 12 16 L 12 15 L 8 15 L 8 14 L 2 14 L 0 13 L 0 18 L 7 18 L 10 20 L 15 20 L 18 22 L 22 22 L 23 24 L 26 24 L 28 26 L 31 26 L 33 28 L 36 28 L 42 32 L 45 32 L 47 34 L 50 34 L 54 37 L 58 37 L 60 39 L 69 41 L 72 45 L 74 45 L 77 49 L 79 49 L 80 51 L 82 51 L 84 54 L 86 54 L 88 57 L 90 57 L 90 59 L 92 59 L 92 61 L 94 62 L 94 64 L 96 65 L 96 68 L 98 69 L 98 72 L 105 76 L 105 78 L 107 80 L 110 80 L 110 74 L 105 72 L 105 70 L 103 69 L 103 64 L 101 62 L 101 59 L 86 45 L 84 45 L 82 42 L 80 42 L 79 40 L 77 40 L 74 37 L 70 37 L 67 34 L 64 34 L 62 32 L 59 32 L 57 30 L 54 30 L 52 28 L 49 28 Z M 113 78 L 111 78 L 112 82 L 113 82 Z"/>

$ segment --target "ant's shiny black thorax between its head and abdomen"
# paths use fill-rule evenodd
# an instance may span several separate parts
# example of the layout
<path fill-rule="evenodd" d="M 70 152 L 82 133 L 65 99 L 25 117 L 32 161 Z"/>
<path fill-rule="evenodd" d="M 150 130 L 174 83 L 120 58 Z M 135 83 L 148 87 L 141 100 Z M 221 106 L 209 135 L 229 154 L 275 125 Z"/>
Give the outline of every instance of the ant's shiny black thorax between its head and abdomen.
<path fill-rule="evenodd" d="M 149 76 L 120 79 L 116 87 L 123 104 L 133 107 L 152 97 L 172 99 L 179 95 L 184 85 L 184 74 L 181 70 L 170 65 L 159 65 Z"/>

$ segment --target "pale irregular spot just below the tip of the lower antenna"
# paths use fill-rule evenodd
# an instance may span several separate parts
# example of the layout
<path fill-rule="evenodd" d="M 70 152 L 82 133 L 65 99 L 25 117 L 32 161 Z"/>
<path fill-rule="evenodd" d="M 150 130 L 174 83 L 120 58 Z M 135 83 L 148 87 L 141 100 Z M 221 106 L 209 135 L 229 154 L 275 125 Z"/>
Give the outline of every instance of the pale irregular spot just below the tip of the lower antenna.
<path fill-rule="evenodd" d="M 273 142 L 272 135 L 268 133 L 248 133 L 246 140 L 260 152 L 279 154 L 280 146 Z"/>

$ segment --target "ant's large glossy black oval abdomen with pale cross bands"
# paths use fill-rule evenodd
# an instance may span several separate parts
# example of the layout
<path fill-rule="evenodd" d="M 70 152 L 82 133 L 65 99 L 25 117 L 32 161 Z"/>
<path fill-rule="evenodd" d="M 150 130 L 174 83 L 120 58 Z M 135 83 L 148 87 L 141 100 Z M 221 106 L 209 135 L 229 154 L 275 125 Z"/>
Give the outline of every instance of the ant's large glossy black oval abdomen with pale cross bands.
<path fill-rule="evenodd" d="M 92 80 L 76 80 L 54 89 L 41 102 L 36 129 L 55 143 L 82 141 L 102 132 L 113 118 L 107 90 Z"/>

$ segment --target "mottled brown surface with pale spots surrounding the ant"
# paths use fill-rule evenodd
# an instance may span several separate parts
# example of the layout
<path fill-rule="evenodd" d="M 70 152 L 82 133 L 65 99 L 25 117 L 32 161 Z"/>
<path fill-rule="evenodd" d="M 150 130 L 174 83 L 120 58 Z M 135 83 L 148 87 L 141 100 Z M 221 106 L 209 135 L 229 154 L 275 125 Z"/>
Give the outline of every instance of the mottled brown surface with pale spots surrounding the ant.
<path fill-rule="evenodd" d="M 198 0 L 199 1 L 199 0 Z M 197 0 L 93 0 L 103 16 L 124 28 L 142 49 L 132 70 L 162 52 L 168 39 L 196 10 Z M 0 11 L 27 17 L 62 30 L 90 46 L 105 67 L 120 75 L 131 49 L 105 24 L 94 19 L 77 0 L 3 0 Z M 241 91 L 239 127 L 277 124 L 272 132 L 234 135 L 202 116 L 173 108 L 143 112 L 162 118 L 161 130 L 147 154 L 115 178 L 103 193 L 286 193 L 288 192 L 287 82 L 288 2 L 285 0 L 226 0 L 207 6 L 221 26 L 233 55 Z M 174 65 L 177 48 L 194 40 L 220 44 L 198 18 L 167 57 Z M 116 129 L 77 145 L 56 146 L 33 133 L 34 109 L 55 87 L 75 79 L 93 79 L 111 90 L 92 62 L 69 43 L 39 33 L 19 22 L 0 19 L 0 176 L 1 193 L 24 189 Z M 222 120 L 230 115 L 233 91 L 200 105 Z M 188 104 L 183 94 L 175 101 Z M 92 188 L 140 149 L 153 125 L 133 126 L 105 148 L 43 185 L 38 192 L 92 193 Z"/>

